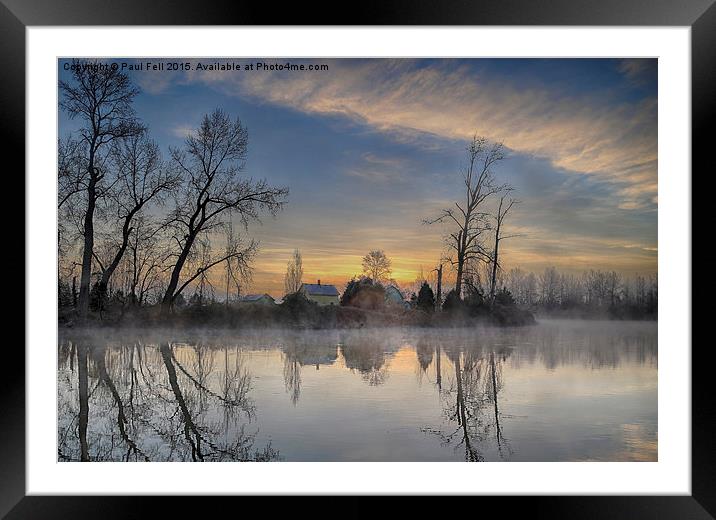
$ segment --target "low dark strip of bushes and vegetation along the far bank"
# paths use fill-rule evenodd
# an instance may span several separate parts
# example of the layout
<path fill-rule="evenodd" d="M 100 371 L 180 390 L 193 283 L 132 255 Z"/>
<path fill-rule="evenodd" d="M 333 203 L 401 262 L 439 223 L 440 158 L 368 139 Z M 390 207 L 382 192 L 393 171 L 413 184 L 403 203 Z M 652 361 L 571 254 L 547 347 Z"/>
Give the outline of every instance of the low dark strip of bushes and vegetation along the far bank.
<path fill-rule="evenodd" d="M 299 265 L 294 271 L 300 272 Z M 295 284 L 295 282 L 293 282 Z M 389 286 L 390 287 L 390 286 Z M 96 291 L 94 291 L 96 292 Z M 386 297 L 386 288 L 368 277 L 348 282 L 337 305 L 319 305 L 301 291 L 288 294 L 280 303 L 248 303 L 241 299 L 219 301 L 193 297 L 180 299 L 173 312 L 162 312 L 160 304 L 140 305 L 123 298 L 121 291 L 109 299 L 92 299 L 88 316 L 78 319 L 67 288 L 60 287 L 59 326 L 73 328 L 173 328 L 212 327 L 217 330 L 293 329 L 340 330 L 387 327 L 478 328 L 514 327 L 537 324 L 539 319 L 656 321 L 656 294 L 648 292 L 644 302 L 633 298 L 594 300 L 577 303 L 569 298 L 520 303 L 503 287 L 490 303 L 481 292 L 471 289 L 465 298 L 454 290 L 436 303 L 430 285 L 423 282 L 409 301 L 396 303 Z"/>

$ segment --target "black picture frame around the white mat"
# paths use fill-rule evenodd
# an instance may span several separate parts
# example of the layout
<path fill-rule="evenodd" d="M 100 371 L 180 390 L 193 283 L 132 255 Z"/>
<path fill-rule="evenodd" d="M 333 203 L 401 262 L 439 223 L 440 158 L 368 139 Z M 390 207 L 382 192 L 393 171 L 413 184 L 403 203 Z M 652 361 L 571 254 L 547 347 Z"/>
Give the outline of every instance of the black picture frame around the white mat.
<path fill-rule="evenodd" d="M 25 28 L 38 25 L 607 25 L 690 26 L 692 80 L 692 172 L 713 171 L 707 128 L 716 104 L 715 0 L 460 0 L 362 1 L 342 10 L 318 4 L 189 0 L 0 0 L 0 126 L 3 148 L 20 158 L 25 149 Z M 342 16 L 341 12 L 350 16 Z M 8 156 L 10 154 L 3 154 Z M 6 170 L 7 171 L 7 170 Z M 660 172 L 665 174 L 665 172 Z M 8 174 L 9 175 L 9 174 Z M 18 176 L 19 177 L 19 176 Z M 692 173 L 692 179 L 695 175 Z M 23 183 L 24 184 L 24 183 Z M 19 188 L 23 190 L 24 187 Z M 694 225 L 703 226 L 693 219 Z M 706 219 L 710 224 L 713 217 Z M 697 224 L 698 222 L 698 224 Z M 692 236 L 696 236 L 692 231 Z M 23 250 L 24 251 L 24 250 Z M 24 253 L 23 253 L 24 254 Z M 25 273 L 28 276 L 28 273 Z M 705 291 L 706 289 L 701 289 Z M 694 294 L 696 295 L 696 294 Z M 689 305 L 690 302 L 683 302 Z M 696 306 L 692 306 L 696 309 Z M 697 314 L 694 310 L 694 314 Z M 693 318 L 692 318 L 693 320 Z M 688 345 L 671 346 L 686 349 Z M 700 348 L 699 348 L 700 347 Z M 10 350 L 8 348 L 8 350 Z M 714 518 L 716 516 L 716 449 L 711 399 L 710 345 L 692 349 L 692 494 L 639 497 L 508 497 L 530 516 L 578 518 Z M 50 349 L 52 351 L 52 349 Z M 0 394 L 0 514 L 8 518 L 65 515 L 132 517 L 146 511 L 148 498 L 25 496 L 25 354 L 8 356 L 14 370 L 5 371 Z M 357 500 L 357 499 L 353 499 Z M 482 500 L 482 499 L 481 499 Z M 492 499 L 490 499 L 492 501 Z M 505 500 L 502 498 L 500 500 Z M 131 507 L 127 502 L 131 501 Z M 163 501 L 162 507 L 184 508 L 185 500 Z M 325 505 L 325 503 L 324 503 Z M 127 507 L 125 507 L 127 506 Z M 128 508 L 129 507 L 129 508 Z M 423 506 L 420 506 L 421 509 Z M 350 508 L 354 509 L 354 508 Z M 344 509 L 345 511 L 345 509 Z M 423 512 L 427 510 L 423 509 Z M 169 510 L 165 510 L 169 515 Z"/>

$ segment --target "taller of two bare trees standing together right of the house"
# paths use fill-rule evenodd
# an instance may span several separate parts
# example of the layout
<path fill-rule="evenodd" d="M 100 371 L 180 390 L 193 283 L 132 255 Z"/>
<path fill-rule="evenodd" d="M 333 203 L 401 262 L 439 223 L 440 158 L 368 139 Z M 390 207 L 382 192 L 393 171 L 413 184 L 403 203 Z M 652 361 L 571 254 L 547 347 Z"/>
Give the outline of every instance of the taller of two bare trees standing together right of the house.
<path fill-rule="evenodd" d="M 502 143 L 489 144 L 484 137 L 475 136 L 467 147 L 467 166 L 462 172 L 465 184 L 465 199 L 455 202 L 454 208 L 445 208 L 440 215 L 426 219 L 426 224 L 447 223 L 454 225 L 445 241 L 449 254 L 447 260 L 457 271 L 455 292 L 462 293 L 465 267 L 471 260 L 487 261 L 490 254 L 485 251 L 482 234 L 489 229 L 488 213 L 483 211 L 484 203 L 491 195 L 505 189 L 498 185 L 492 168 L 504 158 Z"/>

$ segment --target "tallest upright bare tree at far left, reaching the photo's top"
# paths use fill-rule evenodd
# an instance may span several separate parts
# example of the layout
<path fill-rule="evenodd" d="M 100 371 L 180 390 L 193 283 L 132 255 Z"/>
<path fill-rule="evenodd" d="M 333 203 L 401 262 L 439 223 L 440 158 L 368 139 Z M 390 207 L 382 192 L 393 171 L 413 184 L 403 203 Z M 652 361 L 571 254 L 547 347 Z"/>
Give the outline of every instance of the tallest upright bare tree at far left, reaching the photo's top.
<path fill-rule="evenodd" d="M 115 139 L 136 135 L 141 125 L 134 116 L 132 101 L 138 90 L 129 76 L 109 64 L 72 61 L 72 82 L 60 81 L 60 106 L 70 118 L 79 118 L 79 142 L 84 163 L 81 184 L 86 187 L 83 216 L 84 249 L 78 300 L 79 318 L 89 310 L 90 278 L 94 252 L 94 214 L 97 200 L 104 196 L 101 155 Z"/>

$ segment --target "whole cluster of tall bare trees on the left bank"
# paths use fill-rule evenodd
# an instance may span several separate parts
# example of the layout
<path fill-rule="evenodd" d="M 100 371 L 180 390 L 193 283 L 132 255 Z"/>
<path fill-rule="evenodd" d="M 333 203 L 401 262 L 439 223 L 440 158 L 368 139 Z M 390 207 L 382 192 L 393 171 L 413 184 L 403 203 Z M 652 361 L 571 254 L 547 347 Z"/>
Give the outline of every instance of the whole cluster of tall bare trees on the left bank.
<path fill-rule="evenodd" d="M 165 314 L 187 287 L 211 285 L 215 266 L 225 266 L 227 293 L 250 276 L 258 242 L 248 225 L 276 215 L 288 188 L 243 174 L 249 134 L 238 117 L 205 114 L 163 153 L 135 111 L 139 89 L 127 74 L 75 66 L 59 90 L 77 126 L 58 143 L 61 306 L 84 321 L 111 297 L 151 299 Z M 225 247 L 212 247 L 222 234 Z"/>

